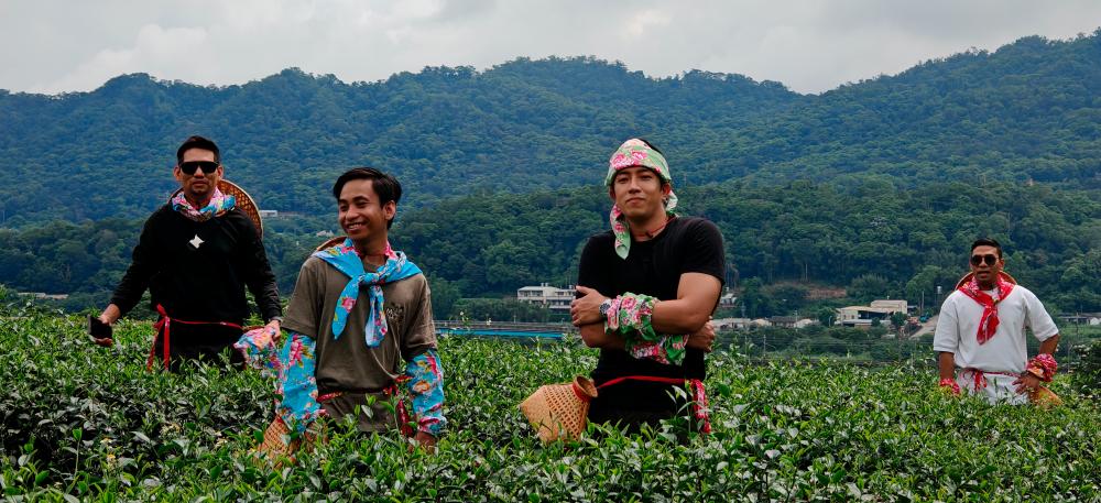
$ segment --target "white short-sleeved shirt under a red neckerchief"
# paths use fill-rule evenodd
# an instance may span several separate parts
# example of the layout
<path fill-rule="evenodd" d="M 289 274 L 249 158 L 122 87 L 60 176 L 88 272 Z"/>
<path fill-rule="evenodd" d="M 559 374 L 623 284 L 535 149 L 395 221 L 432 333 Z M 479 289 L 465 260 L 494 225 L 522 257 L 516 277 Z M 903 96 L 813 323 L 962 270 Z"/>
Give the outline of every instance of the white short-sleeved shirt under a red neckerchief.
<path fill-rule="evenodd" d="M 998 298 L 998 291 L 986 295 Z M 960 291 L 952 292 L 940 307 L 937 333 L 933 338 L 935 351 L 956 356 L 956 367 L 974 368 L 984 372 L 1021 373 L 1028 362 L 1025 346 L 1025 327 L 1032 328 L 1039 341 L 1059 333 L 1044 304 L 1024 286 L 1015 285 L 1010 295 L 995 304 L 998 330 L 984 345 L 979 343 L 979 321 L 982 305 Z"/>

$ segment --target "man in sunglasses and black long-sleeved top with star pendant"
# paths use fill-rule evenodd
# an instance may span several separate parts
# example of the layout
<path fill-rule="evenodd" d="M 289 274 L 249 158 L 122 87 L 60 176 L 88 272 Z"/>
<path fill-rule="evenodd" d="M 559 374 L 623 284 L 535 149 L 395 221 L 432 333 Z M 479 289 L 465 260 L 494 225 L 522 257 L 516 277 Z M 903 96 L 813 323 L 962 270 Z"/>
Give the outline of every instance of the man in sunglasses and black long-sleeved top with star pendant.
<path fill-rule="evenodd" d="M 225 174 L 218 145 L 190 136 L 176 151 L 172 170 L 181 190 L 142 228 L 133 261 L 110 305 L 90 320 L 94 335 L 130 311 L 148 288 L 160 319 L 149 365 L 160 360 L 175 370 L 182 361 L 221 358 L 243 361 L 229 348 L 249 317 L 252 293 L 268 328 L 280 329 L 282 308 L 275 275 L 252 220 L 222 194 Z M 98 322 L 97 322 L 98 321 Z M 98 330 L 97 330 L 98 325 Z M 97 342 L 110 345 L 110 339 Z"/>

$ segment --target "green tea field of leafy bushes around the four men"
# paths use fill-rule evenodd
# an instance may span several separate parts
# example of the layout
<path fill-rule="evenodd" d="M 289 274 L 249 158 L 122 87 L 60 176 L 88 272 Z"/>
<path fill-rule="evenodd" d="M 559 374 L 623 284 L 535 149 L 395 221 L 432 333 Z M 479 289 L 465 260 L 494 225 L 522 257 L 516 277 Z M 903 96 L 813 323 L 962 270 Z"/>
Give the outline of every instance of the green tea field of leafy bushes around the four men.
<path fill-rule="evenodd" d="M 543 447 L 516 404 L 596 364 L 577 341 L 440 341 L 449 430 L 435 455 L 331 424 L 273 470 L 248 453 L 271 417 L 255 372 L 144 370 L 150 325 L 115 348 L 84 321 L 0 318 L 0 491 L 13 501 L 1101 501 L 1101 411 L 990 406 L 937 391 L 930 358 L 857 367 L 709 357 L 715 433 L 593 427 Z M 1088 390 L 1088 389 L 1087 389 Z"/>

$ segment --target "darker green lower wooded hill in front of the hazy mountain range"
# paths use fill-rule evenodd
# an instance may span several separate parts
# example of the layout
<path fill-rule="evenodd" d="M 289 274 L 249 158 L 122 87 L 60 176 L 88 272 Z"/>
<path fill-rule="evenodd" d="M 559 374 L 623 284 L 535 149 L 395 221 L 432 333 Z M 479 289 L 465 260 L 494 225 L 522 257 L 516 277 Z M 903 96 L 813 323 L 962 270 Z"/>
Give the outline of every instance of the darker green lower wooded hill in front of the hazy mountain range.
<path fill-rule="evenodd" d="M 722 230 L 728 281 L 746 278 L 846 286 L 853 298 L 890 296 L 934 304 L 967 271 L 968 245 L 1000 239 L 1006 270 L 1057 309 L 1101 310 L 1101 201 L 1095 193 L 1053 192 L 1007 182 L 933 183 L 896 189 L 869 182 L 846 192 L 806 181 L 749 187 L 689 187 L 686 215 Z M 512 295 L 539 282 L 571 284 L 585 240 L 608 228 L 610 201 L 588 188 L 462 196 L 401 211 L 391 233 L 432 278 L 440 316 L 458 297 Z M 0 229 L 0 283 L 19 289 L 99 293 L 121 277 L 140 221 Z M 324 238 L 269 232 L 269 255 L 288 292 L 298 266 Z M 760 284 L 761 282 L 759 282 Z M 783 295 L 798 308 L 805 295 Z M 865 295 L 866 294 L 866 295 Z M 778 300 L 781 297 L 777 297 Z M 749 305 L 751 315 L 785 306 Z"/>

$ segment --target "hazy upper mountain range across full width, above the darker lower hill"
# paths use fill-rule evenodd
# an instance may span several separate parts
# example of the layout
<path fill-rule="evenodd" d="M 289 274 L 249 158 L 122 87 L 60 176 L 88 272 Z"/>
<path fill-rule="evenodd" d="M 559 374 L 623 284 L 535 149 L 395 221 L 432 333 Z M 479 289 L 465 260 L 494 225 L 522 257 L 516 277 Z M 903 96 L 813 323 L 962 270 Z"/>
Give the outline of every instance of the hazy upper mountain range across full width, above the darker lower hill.
<path fill-rule="evenodd" d="M 820 96 L 738 75 L 654 79 L 592 58 L 426 68 L 344 84 L 296 69 L 241 86 L 148 75 L 92 92 L 0 91 L 0 222 L 141 218 L 176 145 L 216 139 L 269 209 L 323 214 L 351 165 L 393 171 L 412 206 L 599 181 L 624 138 L 654 140 L 679 185 L 879 176 L 1101 187 L 1101 31 L 1022 39 Z"/>

